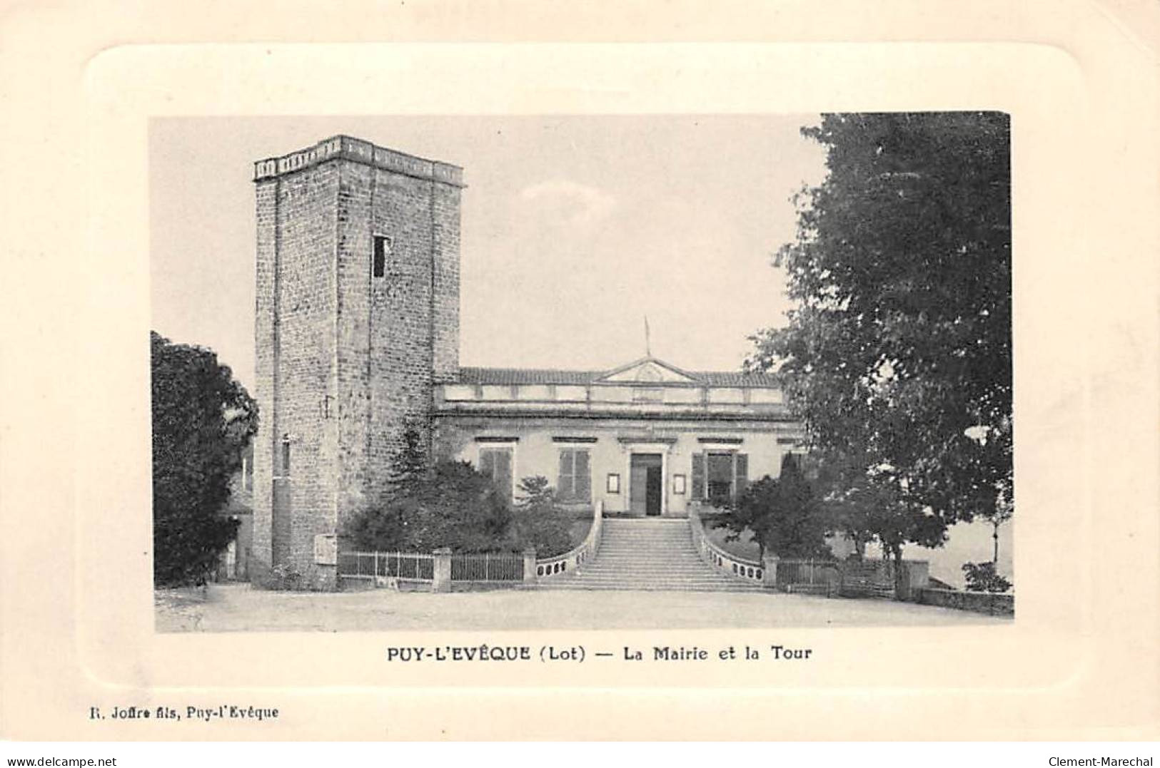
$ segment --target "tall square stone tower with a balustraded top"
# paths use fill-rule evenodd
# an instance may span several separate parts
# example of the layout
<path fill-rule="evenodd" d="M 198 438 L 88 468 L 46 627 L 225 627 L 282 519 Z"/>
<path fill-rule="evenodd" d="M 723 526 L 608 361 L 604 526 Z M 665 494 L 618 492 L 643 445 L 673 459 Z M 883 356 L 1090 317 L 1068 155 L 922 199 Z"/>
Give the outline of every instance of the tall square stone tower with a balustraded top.
<path fill-rule="evenodd" d="M 335 587 L 335 535 L 458 376 L 462 180 L 345 136 L 254 163 L 258 578 Z"/>

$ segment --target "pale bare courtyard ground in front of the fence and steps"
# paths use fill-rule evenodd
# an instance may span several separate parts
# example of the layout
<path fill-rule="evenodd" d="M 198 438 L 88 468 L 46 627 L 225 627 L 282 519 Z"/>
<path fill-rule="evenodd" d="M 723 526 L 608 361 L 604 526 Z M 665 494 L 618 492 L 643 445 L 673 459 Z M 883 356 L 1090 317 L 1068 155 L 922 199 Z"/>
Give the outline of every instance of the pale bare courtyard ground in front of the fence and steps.
<path fill-rule="evenodd" d="M 1009 619 L 891 600 L 763 592 L 267 592 L 247 584 L 159 590 L 157 629 L 375 631 L 726 629 L 1000 624 Z"/>

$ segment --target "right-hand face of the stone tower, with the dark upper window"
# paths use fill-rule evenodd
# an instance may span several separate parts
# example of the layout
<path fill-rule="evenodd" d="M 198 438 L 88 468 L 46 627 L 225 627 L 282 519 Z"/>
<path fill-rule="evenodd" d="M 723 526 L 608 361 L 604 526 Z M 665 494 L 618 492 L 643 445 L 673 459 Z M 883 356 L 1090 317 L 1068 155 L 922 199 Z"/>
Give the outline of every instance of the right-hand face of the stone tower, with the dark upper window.
<path fill-rule="evenodd" d="M 458 375 L 459 189 L 341 161 L 339 193 L 340 518 L 374 502 L 433 382 Z M 390 241 L 371 275 L 374 239 Z M 341 522 L 340 520 L 340 528 Z"/>

